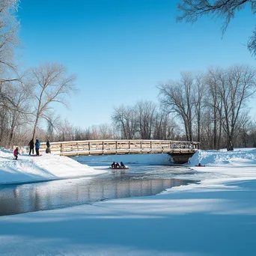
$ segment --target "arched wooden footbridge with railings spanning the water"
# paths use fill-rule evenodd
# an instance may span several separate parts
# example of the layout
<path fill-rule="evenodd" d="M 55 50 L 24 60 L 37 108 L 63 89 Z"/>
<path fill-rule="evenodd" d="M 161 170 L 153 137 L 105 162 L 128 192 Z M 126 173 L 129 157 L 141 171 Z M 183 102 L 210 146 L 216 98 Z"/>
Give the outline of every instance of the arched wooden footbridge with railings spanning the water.
<path fill-rule="evenodd" d="M 198 150 L 199 142 L 165 140 L 91 140 L 52 142 L 52 153 L 61 156 L 90 156 L 141 153 L 168 153 L 174 162 L 187 162 Z M 45 152 L 46 143 L 40 151 Z"/>

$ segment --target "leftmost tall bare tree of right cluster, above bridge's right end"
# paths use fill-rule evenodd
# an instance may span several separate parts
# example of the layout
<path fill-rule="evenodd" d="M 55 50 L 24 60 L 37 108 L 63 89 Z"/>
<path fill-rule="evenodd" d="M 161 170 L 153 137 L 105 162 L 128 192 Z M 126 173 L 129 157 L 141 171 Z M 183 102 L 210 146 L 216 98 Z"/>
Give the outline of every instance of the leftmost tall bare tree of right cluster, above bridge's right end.
<path fill-rule="evenodd" d="M 192 99 L 194 77 L 191 73 L 181 73 L 180 81 L 169 81 L 157 86 L 162 108 L 176 113 L 183 121 L 186 139 L 193 140 L 192 119 L 195 102 Z"/>

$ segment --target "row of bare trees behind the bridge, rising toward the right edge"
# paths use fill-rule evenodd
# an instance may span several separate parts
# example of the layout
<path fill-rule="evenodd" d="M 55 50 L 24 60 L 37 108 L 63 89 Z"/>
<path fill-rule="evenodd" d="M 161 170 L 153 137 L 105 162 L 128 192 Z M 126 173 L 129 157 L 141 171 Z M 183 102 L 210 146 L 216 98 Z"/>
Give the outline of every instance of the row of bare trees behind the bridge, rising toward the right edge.
<path fill-rule="evenodd" d="M 85 129 L 57 121 L 41 131 L 51 141 L 89 139 L 164 139 L 199 141 L 203 149 L 256 147 L 256 122 L 249 100 L 256 90 L 256 70 L 245 65 L 183 72 L 180 79 L 157 85 L 159 104 L 141 100 L 116 106 L 112 124 Z"/>

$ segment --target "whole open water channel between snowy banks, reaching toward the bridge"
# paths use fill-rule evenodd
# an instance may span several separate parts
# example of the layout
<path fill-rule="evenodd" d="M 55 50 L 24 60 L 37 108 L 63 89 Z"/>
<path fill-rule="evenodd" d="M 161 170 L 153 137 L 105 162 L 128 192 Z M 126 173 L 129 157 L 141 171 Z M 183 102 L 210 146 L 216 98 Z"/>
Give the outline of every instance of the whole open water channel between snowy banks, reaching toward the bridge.
<path fill-rule="evenodd" d="M 106 169 L 110 163 L 90 162 L 88 165 Z M 105 174 L 90 178 L 0 185 L 0 216 L 73 207 L 114 198 L 156 195 L 173 186 L 198 182 L 179 178 L 179 175 L 189 177 L 192 172 L 180 166 L 133 164 L 125 171 L 106 170 Z"/>

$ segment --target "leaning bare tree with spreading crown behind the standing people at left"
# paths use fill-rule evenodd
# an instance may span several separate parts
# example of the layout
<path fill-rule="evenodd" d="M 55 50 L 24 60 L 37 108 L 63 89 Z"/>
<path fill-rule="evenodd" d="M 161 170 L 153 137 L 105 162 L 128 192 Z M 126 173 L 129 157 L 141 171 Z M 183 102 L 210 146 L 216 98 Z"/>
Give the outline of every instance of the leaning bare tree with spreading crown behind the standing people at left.
<path fill-rule="evenodd" d="M 34 82 L 34 138 L 40 118 L 49 121 L 52 103 L 67 106 L 66 97 L 74 90 L 75 76 L 67 76 L 66 68 L 61 64 L 41 64 L 34 68 L 32 79 Z"/>

